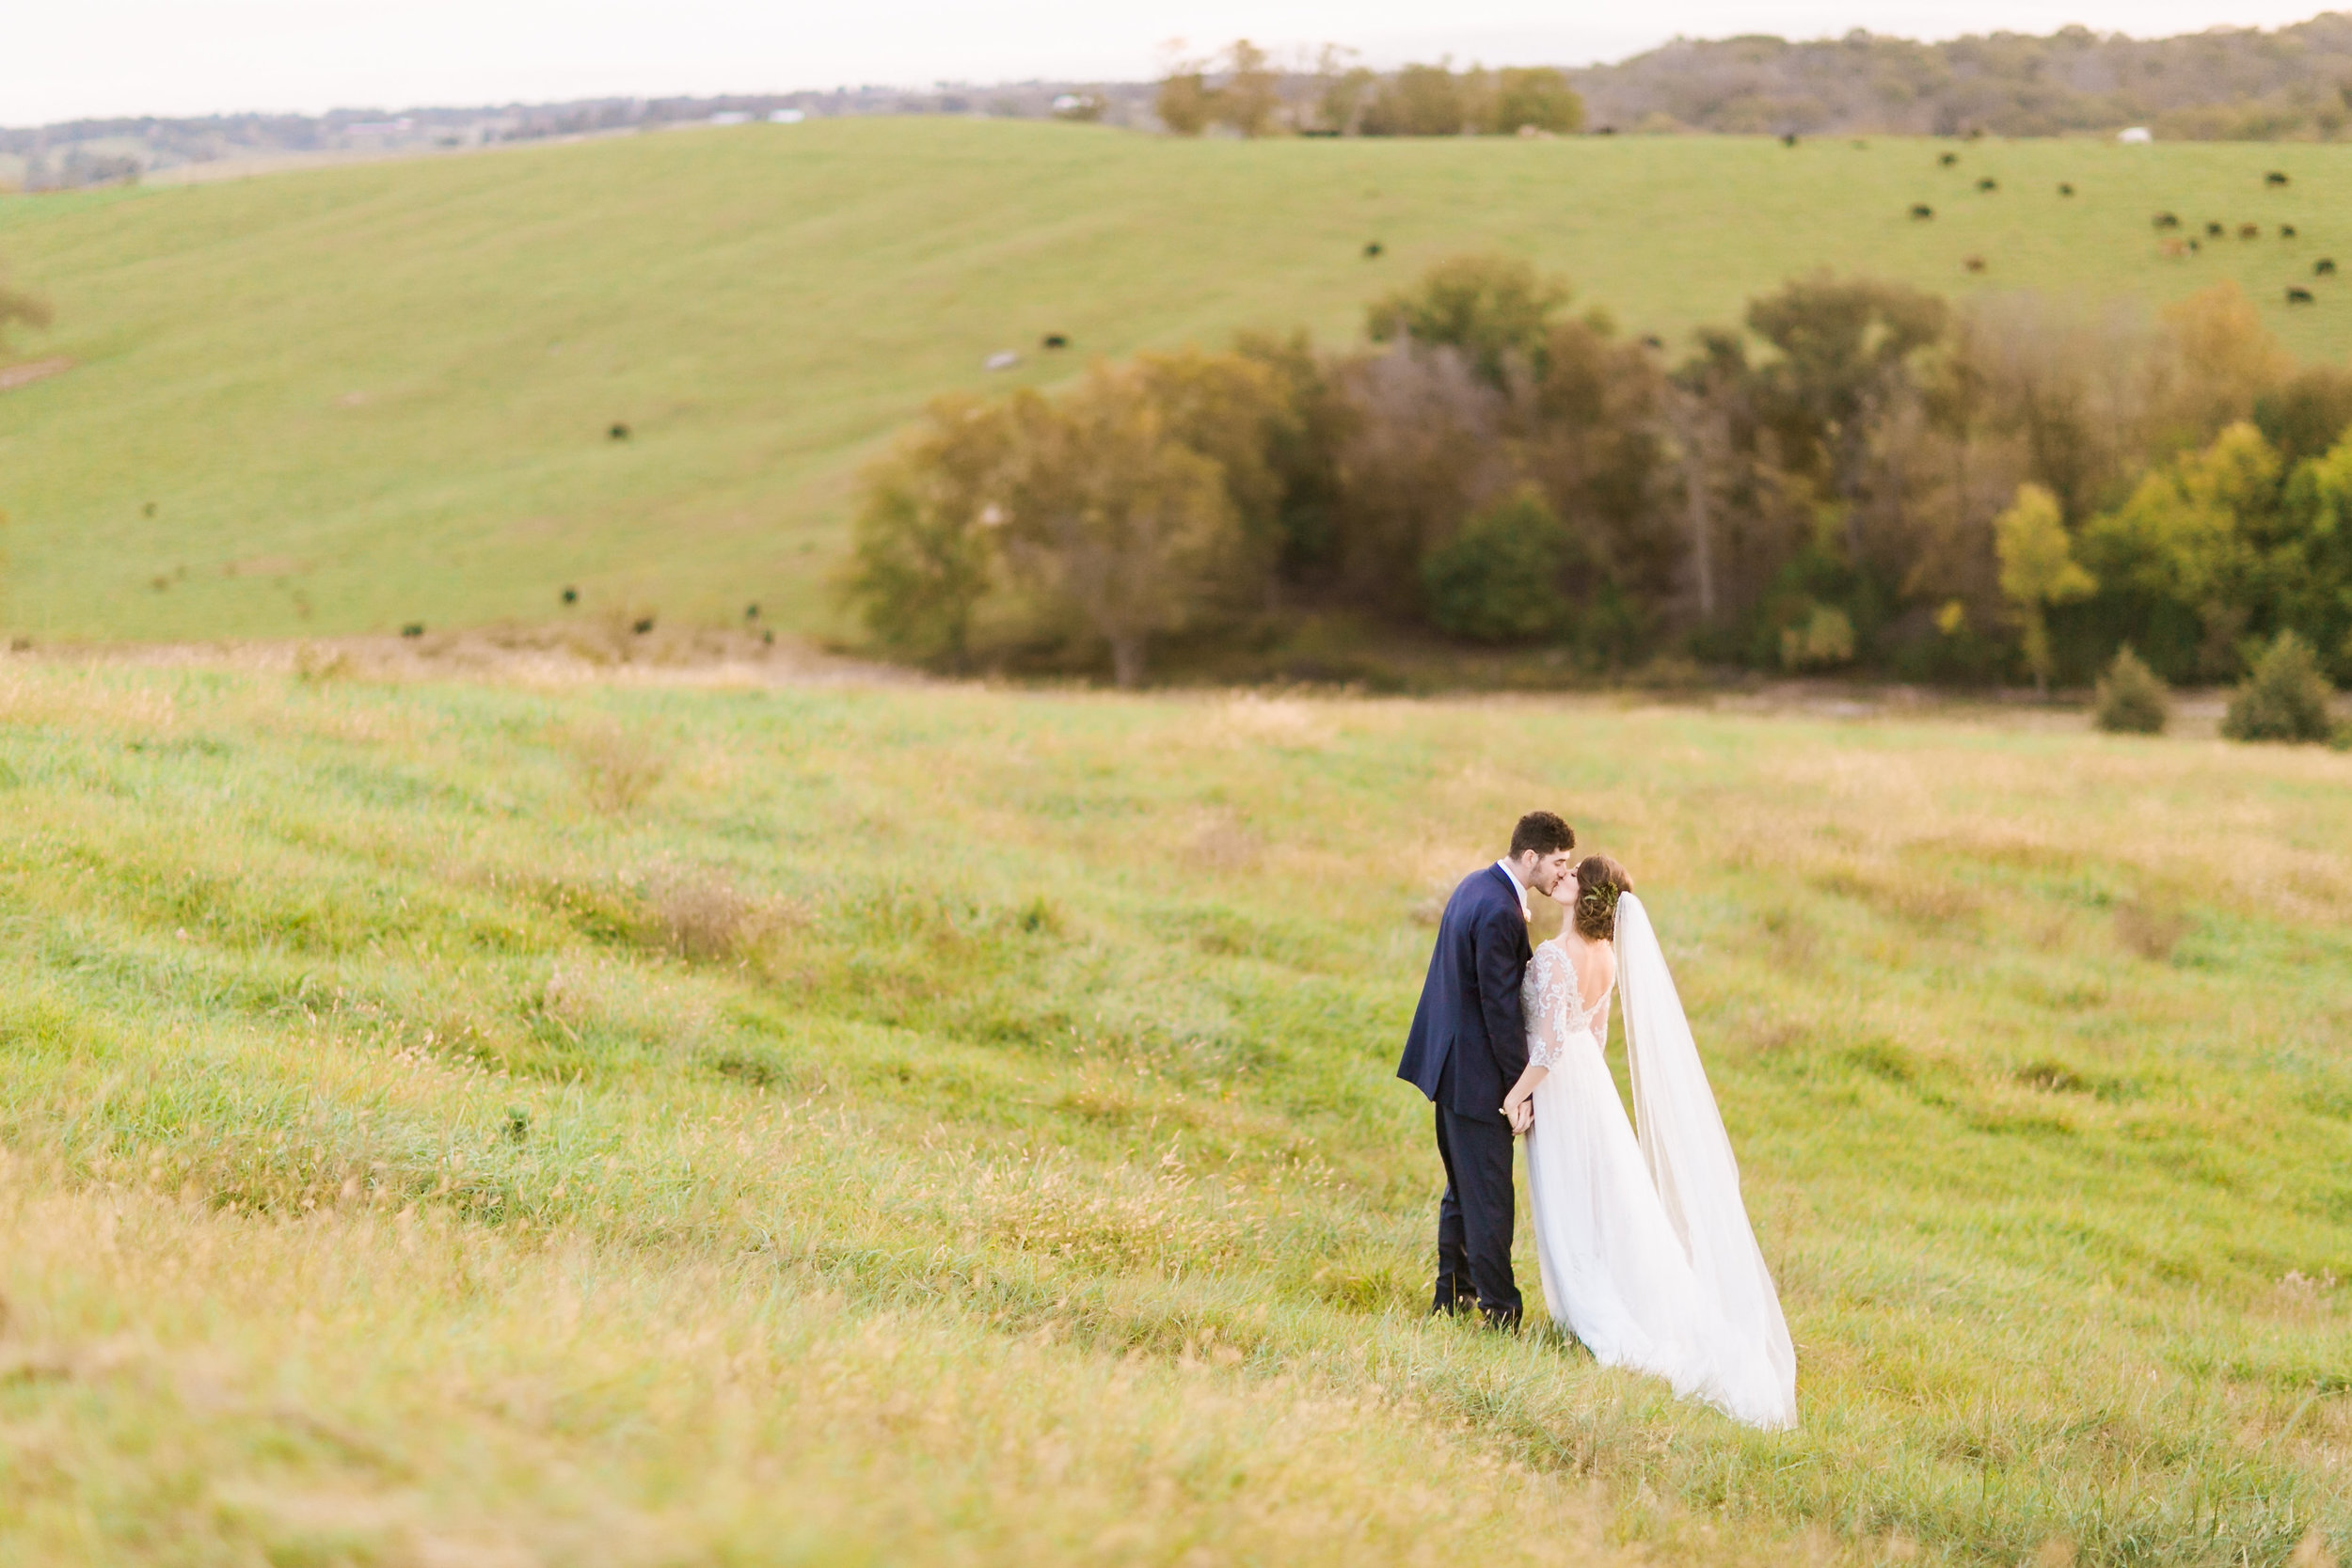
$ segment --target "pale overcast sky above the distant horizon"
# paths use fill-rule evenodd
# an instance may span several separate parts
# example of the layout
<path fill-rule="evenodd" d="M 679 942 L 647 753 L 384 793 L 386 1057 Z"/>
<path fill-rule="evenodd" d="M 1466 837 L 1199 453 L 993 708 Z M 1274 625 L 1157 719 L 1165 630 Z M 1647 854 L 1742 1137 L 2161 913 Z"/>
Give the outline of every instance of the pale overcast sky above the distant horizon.
<path fill-rule="evenodd" d="M 2312 0 L 49 0 L 9 7 L 0 125 L 1152 73 L 1169 38 L 1588 63 L 1677 33 L 1952 38 L 2277 26 Z"/>

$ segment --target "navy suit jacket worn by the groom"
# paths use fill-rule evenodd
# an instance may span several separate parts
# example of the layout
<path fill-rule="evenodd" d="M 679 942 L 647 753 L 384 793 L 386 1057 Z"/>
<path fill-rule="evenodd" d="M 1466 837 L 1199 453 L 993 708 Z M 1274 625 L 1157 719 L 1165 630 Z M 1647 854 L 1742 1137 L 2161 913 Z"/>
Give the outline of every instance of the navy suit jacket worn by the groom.
<path fill-rule="evenodd" d="M 1446 1110 L 1505 1121 L 1503 1095 L 1526 1072 L 1519 980 L 1531 957 L 1510 872 L 1489 865 L 1463 877 L 1437 922 L 1430 978 L 1421 983 L 1397 1077 L 1435 1100 L 1451 1058 Z"/>

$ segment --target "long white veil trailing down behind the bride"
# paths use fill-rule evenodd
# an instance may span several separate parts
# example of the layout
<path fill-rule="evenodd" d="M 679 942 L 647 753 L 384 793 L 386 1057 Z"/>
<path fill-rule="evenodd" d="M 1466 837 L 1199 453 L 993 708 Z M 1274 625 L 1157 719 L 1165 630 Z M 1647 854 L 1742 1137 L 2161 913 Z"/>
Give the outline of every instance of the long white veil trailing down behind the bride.
<path fill-rule="evenodd" d="M 1698 1065 L 1691 1020 L 1682 1013 L 1649 912 L 1632 893 L 1618 898 L 1618 997 L 1625 1006 L 1635 1133 L 1665 1218 L 1691 1255 L 1717 1392 L 1745 1422 L 1795 1427 L 1797 1347 L 1748 1225 L 1740 1166 L 1731 1157 L 1708 1072 Z"/>

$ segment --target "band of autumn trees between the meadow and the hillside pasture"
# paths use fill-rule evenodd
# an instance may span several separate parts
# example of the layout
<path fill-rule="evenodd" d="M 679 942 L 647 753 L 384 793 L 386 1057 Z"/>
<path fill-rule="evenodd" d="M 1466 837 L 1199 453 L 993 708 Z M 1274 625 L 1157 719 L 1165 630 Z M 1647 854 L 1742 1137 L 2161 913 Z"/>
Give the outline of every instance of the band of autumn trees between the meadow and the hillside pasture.
<path fill-rule="evenodd" d="M 1364 341 L 1242 334 L 1061 393 L 943 397 L 866 477 L 849 599 L 950 670 L 1145 679 L 1338 616 L 1592 675 L 1661 656 L 2227 682 L 2352 677 L 2352 371 L 2220 284 L 2154 320 L 1799 277 L 1675 357 L 1461 256 Z"/>

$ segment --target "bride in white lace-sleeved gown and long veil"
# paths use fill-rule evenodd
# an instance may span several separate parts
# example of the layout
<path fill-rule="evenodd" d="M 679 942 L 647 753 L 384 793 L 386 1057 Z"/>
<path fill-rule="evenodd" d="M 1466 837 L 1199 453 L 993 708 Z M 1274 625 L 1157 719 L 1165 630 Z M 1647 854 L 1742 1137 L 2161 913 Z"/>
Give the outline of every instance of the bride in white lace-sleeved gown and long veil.
<path fill-rule="evenodd" d="M 1526 1072 L 1503 1100 L 1526 1133 L 1543 1300 L 1602 1366 L 1795 1427 L 1797 1352 L 1649 914 L 1606 856 L 1552 898 L 1571 919 L 1526 966 Z M 1639 1143 L 1602 1056 L 1611 990 L 1625 994 Z"/>

